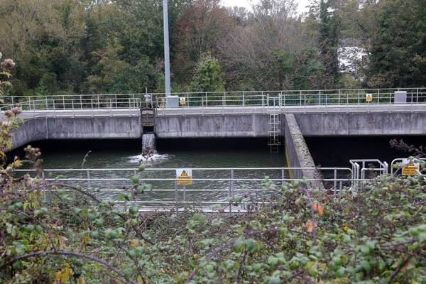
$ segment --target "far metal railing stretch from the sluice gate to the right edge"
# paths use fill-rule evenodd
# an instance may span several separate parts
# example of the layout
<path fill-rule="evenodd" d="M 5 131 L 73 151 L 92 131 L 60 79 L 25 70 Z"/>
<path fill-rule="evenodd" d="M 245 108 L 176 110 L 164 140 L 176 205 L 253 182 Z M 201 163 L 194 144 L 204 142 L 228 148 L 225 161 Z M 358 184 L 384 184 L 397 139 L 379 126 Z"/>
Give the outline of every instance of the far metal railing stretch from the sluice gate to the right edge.
<path fill-rule="evenodd" d="M 395 92 L 407 92 L 406 102 L 395 103 Z M 372 94 L 371 102 L 366 101 L 366 94 Z M 191 109 L 214 109 L 217 113 L 226 108 L 246 109 L 267 112 L 271 107 L 283 111 L 307 112 L 314 110 L 333 111 L 399 111 L 405 107 L 409 111 L 425 111 L 419 106 L 426 104 L 426 88 L 400 89 L 329 89 L 329 90 L 283 90 L 283 91 L 247 91 L 247 92 L 182 92 L 173 95 L 185 98 L 185 104 L 180 106 L 180 113 Z M 165 110 L 174 111 L 165 104 L 165 94 L 152 94 L 156 99 L 158 115 L 164 115 Z M 204 113 L 202 113 L 204 114 Z"/>

